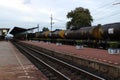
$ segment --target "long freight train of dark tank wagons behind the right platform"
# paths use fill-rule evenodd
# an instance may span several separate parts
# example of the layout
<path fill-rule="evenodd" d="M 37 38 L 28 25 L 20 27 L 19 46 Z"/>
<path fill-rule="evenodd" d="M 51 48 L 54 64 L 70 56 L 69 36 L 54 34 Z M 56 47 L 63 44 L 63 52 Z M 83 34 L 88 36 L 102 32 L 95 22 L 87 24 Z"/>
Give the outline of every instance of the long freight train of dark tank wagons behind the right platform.
<path fill-rule="evenodd" d="M 26 34 L 15 36 L 26 39 Z M 71 45 L 84 45 L 95 48 L 108 48 L 110 44 L 116 44 L 120 48 L 120 22 L 105 25 L 81 27 L 77 30 L 68 29 L 27 33 L 28 40 L 60 42 Z"/>

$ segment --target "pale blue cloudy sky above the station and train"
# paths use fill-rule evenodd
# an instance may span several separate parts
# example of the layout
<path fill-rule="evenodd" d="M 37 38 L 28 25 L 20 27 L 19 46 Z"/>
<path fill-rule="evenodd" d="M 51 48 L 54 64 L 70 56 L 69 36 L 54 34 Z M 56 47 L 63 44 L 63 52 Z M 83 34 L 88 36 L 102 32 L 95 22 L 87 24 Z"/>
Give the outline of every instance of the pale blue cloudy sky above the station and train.
<path fill-rule="evenodd" d="M 89 9 L 92 25 L 120 22 L 120 0 L 0 0 L 0 28 L 40 26 L 66 29 L 66 15 L 76 7 Z"/>

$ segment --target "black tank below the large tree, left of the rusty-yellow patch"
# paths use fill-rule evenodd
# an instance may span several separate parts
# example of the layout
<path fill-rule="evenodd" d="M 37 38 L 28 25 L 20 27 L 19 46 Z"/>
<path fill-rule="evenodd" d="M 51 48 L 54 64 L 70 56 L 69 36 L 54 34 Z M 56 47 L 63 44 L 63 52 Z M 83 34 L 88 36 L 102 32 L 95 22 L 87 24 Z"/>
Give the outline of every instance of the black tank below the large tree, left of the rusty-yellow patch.
<path fill-rule="evenodd" d="M 67 39 L 80 39 L 80 40 L 89 40 L 95 39 L 95 32 L 96 27 L 82 27 L 78 30 L 67 30 L 65 32 L 65 37 Z"/>

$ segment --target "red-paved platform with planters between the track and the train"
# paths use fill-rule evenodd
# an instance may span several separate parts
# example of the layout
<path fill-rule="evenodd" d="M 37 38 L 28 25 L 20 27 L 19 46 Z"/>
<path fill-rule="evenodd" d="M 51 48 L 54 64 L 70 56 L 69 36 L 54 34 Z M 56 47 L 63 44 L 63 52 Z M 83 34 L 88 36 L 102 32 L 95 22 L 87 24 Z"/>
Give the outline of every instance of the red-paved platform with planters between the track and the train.
<path fill-rule="evenodd" d="M 59 51 L 64 54 L 76 55 L 85 59 L 96 60 L 110 65 L 120 66 L 120 54 L 109 54 L 107 50 L 86 48 L 76 49 L 75 46 L 61 45 L 57 46 L 54 43 L 38 42 L 38 41 L 21 41 L 24 43 L 32 44 L 34 46 Z"/>

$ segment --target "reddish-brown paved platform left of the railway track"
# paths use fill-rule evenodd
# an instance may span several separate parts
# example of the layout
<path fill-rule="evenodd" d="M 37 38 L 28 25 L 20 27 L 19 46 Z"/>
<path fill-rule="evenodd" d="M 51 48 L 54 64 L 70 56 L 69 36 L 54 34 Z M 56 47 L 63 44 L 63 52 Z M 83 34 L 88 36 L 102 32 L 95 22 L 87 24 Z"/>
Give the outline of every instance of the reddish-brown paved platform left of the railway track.
<path fill-rule="evenodd" d="M 0 41 L 0 80 L 48 80 L 9 41 Z"/>

